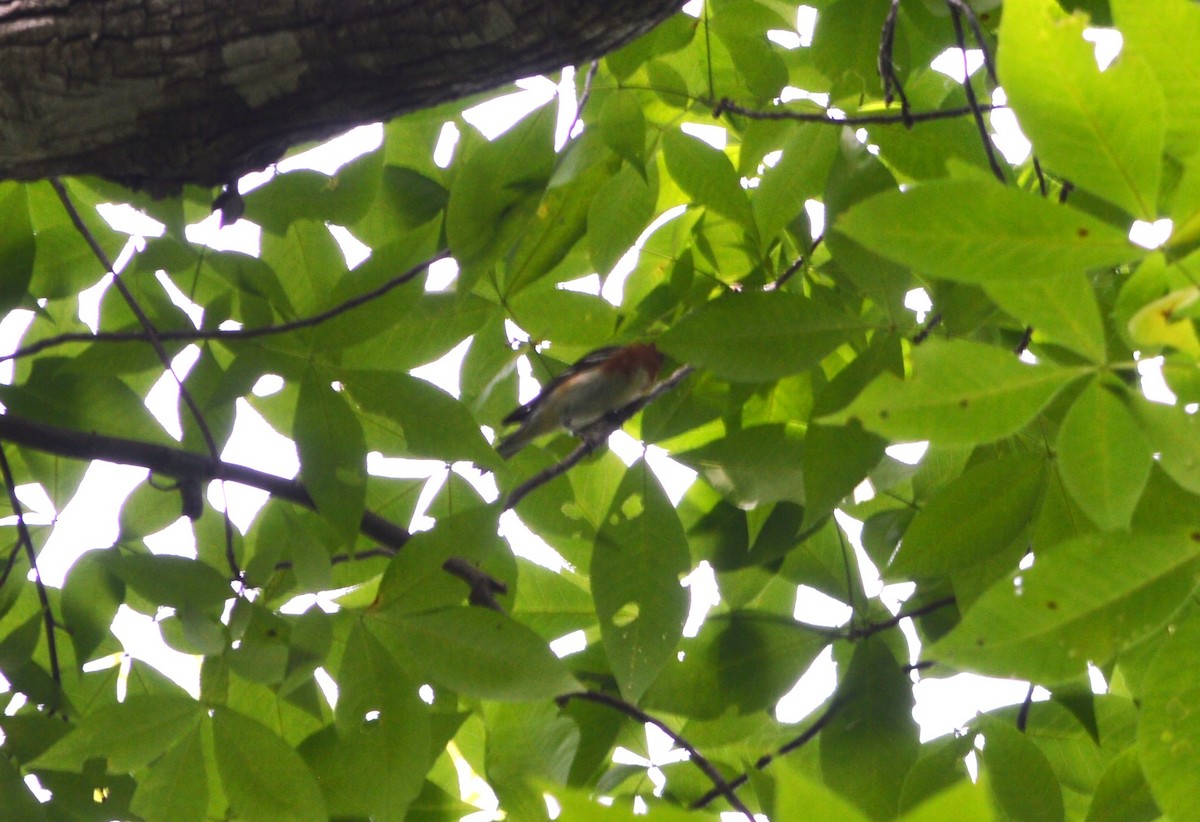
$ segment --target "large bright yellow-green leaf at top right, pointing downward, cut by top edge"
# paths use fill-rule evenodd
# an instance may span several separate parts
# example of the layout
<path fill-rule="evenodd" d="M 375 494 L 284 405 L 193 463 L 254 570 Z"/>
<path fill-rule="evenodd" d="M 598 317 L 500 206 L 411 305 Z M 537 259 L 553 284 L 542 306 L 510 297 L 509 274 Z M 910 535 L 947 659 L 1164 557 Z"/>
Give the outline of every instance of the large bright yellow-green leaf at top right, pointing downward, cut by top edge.
<path fill-rule="evenodd" d="M 1042 163 L 1135 217 L 1154 220 L 1165 128 L 1162 89 L 1133 55 L 1100 72 L 1092 44 L 1084 41 L 1087 23 L 1054 0 L 1008 0 L 1000 82 Z"/>

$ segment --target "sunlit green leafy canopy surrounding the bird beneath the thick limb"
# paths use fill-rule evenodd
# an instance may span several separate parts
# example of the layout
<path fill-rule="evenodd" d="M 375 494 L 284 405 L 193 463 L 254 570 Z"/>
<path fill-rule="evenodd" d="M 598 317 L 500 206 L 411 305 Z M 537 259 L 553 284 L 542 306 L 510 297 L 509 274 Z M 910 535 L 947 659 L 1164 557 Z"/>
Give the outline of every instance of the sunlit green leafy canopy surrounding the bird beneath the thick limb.
<path fill-rule="evenodd" d="M 812 5 L 811 44 L 779 34 L 792 4 L 712 0 L 581 70 L 559 150 L 556 104 L 492 140 L 467 103 L 389 122 L 332 175 L 246 194 L 257 257 L 188 239 L 210 191 L 0 186 L 0 304 L 31 312 L 0 386 L 0 816 L 455 820 L 457 758 L 515 820 L 548 818 L 544 794 L 571 821 L 631 820 L 634 797 L 652 820 L 1200 818 L 1200 6 Z M 1103 71 L 1090 25 L 1123 35 Z M 955 43 L 988 58 L 968 86 L 930 68 Z M 1020 161 L 980 138 L 997 83 Z M 724 148 L 692 127 L 714 125 Z M 114 202 L 164 228 L 103 289 L 97 331 L 80 294 L 126 244 L 96 210 Z M 1164 245 L 1130 241 L 1160 218 Z M 451 286 L 422 287 L 444 257 Z M 595 272 L 612 301 L 563 288 Z M 468 340 L 457 396 L 412 376 Z M 647 458 L 565 437 L 499 460 L 481 426 L 517 403 L 521 358 L 545 382 L 637 340 L 677 370 L 626 428 L 697 473 L 678 503 Z M 185 349 L 176 442 L 143 400 Z M 1174 406 L 1142 389 L 1159 356 Z M 282 388 L 256 392 L 269 374 Z M 299 484 L 220 461 L 240 402 L 294 439 Z M 917 464 L 887 452 L 917 440 Z M 404 530 L 426 480 L 371 474 L 372 451 L 458 466 L 431 529 Z M 14 490 L 61 511 L 91 458 L 152 473 L 116 545 L 43 586 L 54 527 Z M 240 533 L 210 482 L 271 496 Z M 196 554 L 154 553 L 181 508 Z M 569 570 L 514 556 L 509 508 Z M 908 583 L 899 613 L 866 560 Z M 685 637 L 679 581 L 702 562 L 721 602 Z M 850 622 L 797 620 L 797 586 Z M 334 612 L 286 607 L 329 590 Z M 203 656 L 198 698 L 95 662 L 120 659 L 122 606 Z M 576 631 L 582 652 L 551 652 Z M 778 721 L 827 648 L 833 696 Z M 960 671 L 1049 698 L 923 743 L 913 682 Z M 644 752 L 647 722 L 691 754 L 661 798 L 612 760 Z"/>

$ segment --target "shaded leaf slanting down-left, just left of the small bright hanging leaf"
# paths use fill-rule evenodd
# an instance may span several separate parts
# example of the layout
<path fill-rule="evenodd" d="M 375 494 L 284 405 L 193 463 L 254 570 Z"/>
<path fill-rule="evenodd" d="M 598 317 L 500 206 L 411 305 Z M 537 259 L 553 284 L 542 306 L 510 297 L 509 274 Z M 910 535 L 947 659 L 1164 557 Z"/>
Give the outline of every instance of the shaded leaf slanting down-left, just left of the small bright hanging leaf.
<path fill-rule="evenodd" d="M 917 512 L 890 570 L 906 577 L 947 576 L 990 559 L 1028 527 L 1045 478 L 1038 455 L 971 468 Z"/>

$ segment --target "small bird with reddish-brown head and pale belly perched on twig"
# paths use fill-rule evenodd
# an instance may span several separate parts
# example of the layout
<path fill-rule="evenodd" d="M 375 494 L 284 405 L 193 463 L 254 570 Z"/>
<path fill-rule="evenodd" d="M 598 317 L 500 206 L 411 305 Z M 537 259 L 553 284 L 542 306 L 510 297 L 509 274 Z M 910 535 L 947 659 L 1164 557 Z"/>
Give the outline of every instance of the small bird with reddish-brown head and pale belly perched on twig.
<path fill-rule="evenodd" d="M 542 434 L 563 427 L 578 436 L 605 414 L 646 394 L 662 367 L 652 343 L 598 348 L 568 367 L 541 394 L 504 418 L 520 427 L 496 450 L 508 460 Z"/>

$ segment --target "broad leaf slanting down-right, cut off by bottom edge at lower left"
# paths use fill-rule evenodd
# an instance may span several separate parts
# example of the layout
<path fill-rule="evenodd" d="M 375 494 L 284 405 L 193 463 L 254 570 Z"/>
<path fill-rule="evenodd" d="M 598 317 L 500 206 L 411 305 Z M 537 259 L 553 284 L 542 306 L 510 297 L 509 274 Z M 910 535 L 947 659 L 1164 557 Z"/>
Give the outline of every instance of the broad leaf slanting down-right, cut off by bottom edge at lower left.
<path fill-rule="evenodd" d="M 295 822 L 329 818 L 304 760 L 259 722 L 218 706 L 212 713 L 212 743 L 221 787 L 238 816 Z"/>

